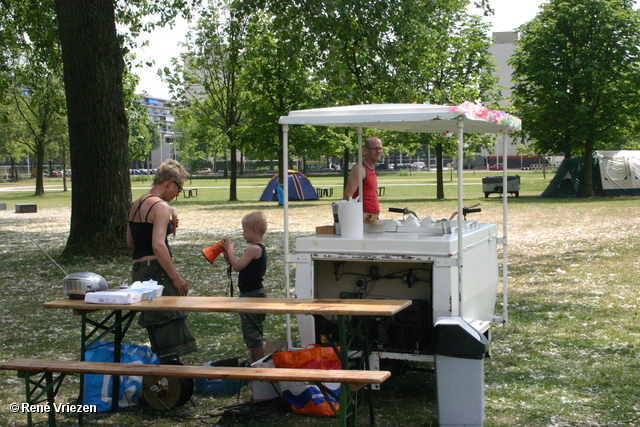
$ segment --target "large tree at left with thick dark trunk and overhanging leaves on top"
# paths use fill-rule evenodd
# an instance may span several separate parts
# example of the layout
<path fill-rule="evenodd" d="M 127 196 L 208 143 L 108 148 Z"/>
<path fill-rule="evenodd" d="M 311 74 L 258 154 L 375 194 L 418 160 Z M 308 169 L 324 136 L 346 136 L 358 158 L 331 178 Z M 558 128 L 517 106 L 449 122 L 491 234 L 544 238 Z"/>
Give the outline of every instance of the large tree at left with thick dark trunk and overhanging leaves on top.
<path fill-rule="evenodd" d="M 179 12 L 188 16 L 190 3 L 199 0 L 0 2 L 3 59 L 6 47 L 19 48 L 16 40 L 27 33 L 33 51 L 40 55 L 38 64 L 56 57 L 64 64 L 75 182 L 65 255 L 102 257 L 128 250 L 125 231 L 131 186 L 123 56 L 132 43 L 118 35 L 116 21 L 135 37 L 159 23 L 171 22 Z M 154 19 L 143 19 L 147 16 Z M 7 61 L 0 64 L 0 88 L 7 86 L 4 76 L 11 72 L 10 65 Z"/>

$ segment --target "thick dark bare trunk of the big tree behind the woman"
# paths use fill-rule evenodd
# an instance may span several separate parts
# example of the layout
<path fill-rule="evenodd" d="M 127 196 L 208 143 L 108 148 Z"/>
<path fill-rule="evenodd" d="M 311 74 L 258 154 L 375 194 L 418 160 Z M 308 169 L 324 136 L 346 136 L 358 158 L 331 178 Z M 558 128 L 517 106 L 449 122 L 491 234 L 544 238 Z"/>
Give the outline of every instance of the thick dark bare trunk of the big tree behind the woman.
<path fill-rule="evenodd" d="M 71 227 L 63 255 L 128 252 L 128 123 L 115 3 L 56 0 L 73 171 Z"/>

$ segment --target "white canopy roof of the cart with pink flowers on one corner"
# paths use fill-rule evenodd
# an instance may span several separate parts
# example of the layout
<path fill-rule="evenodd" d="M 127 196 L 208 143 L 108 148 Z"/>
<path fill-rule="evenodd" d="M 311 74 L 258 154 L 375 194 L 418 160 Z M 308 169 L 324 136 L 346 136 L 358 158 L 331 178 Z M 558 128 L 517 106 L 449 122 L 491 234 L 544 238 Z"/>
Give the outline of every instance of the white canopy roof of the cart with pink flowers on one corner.
<path fill-rule="evenodd" d="M 512 132 L 519 119 L 465 103 L 457 107 L 431 104 L 367 104 L 291 111 L 281 125 L 341 126 L 416 133 L 455 133 L 463 121 L 464 133 Z"/>

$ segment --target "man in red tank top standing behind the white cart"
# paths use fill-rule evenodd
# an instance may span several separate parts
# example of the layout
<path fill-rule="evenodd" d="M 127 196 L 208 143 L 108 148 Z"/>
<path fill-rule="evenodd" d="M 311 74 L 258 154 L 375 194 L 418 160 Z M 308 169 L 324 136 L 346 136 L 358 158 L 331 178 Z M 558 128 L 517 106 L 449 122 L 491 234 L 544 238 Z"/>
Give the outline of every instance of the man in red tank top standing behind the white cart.
<path fill-rule="evenodd" d="M 356 198 L 359 194 L 359 177 L 362 169 L 362 209 L 365 218 L 373 215 L 378 218 L 380 204 L 378 203 L 378 177 L 376 165 L 382 158 L 382 141 L 380 138 L 370 136 L 364 142 L 364 158 L 362 165 L 355 165 L 349 172 L 349 180 L 344 188 L 344 199 Z"/>

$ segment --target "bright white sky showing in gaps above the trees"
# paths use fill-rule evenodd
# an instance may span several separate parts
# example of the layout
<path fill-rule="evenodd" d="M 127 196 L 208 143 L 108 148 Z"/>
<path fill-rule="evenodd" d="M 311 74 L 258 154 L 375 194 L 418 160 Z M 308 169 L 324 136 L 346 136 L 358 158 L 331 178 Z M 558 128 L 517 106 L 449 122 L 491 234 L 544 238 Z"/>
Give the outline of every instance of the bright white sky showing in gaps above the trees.
<path fill-rule="evenodd" d="M 513 31 L 532 20 L 538 13 L 540 5 L 545 2 L 546 0 L 489 0 L 495 15 L 484 20 L 491 24 L 492 32 Z M 469 11 L 478 12 L 473 7 L 470 7 Z M 156 72 L 158 68 L 169 67 L 171 58 L 179 57 L 181 47 L 178 42 L 184 41 L 187 28 L 188 23 L 179 20 L 173 30 L 162 28 L 142 36 L 143 39 L 149 40 L 149 46 L 136 51 L 138 59 L 153 59 L 156 65 L 137 70 L 140 83 L 136 92 L 146 92 L 155 98 L 171 98 L 167 85 L 156 75 Z"/>

